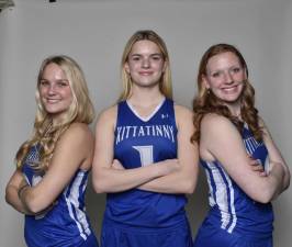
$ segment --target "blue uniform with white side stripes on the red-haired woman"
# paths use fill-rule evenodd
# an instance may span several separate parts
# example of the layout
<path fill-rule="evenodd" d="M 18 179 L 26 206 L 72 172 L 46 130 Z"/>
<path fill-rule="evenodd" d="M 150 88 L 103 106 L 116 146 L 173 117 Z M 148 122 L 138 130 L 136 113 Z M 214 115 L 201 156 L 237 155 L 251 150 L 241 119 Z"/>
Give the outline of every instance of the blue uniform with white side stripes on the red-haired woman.
<path fill-rule="evenodd" d="M 268 150 L 245 125 L 243 142 L 254 159 L 269 165 Z M 271 203 L 250 199 L 216 161 L 201 160 L 209 183 L 211 210 L 200 227 L 194 247 L 272 247 Z"/>

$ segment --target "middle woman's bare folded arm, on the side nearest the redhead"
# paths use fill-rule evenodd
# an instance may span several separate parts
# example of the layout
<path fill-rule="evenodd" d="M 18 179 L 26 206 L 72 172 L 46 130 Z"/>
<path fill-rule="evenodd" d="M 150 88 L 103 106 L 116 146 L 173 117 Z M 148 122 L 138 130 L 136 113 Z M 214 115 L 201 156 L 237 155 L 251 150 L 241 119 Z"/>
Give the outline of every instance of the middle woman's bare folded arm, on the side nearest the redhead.
<path fill-rule="evenodd" d="M 178 126 L 179 169 L 167 176 L 144 183 L 139 189 L 159 193 L 193 193 L 198 179 L 198 145 L 190 142 L 193 134 L 192 112 L 176 105 Z"/>

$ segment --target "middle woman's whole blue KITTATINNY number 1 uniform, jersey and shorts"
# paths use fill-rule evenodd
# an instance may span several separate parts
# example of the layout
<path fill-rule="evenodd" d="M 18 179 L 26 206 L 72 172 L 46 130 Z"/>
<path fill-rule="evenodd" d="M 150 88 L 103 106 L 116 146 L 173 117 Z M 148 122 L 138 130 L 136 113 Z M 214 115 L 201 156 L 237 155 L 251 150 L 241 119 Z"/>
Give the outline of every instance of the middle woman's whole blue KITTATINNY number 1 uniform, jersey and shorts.
<path fill-rule="evenodd" d="M 165 99 L 147 119 L 138 116 L 126 101 L 120 102 L 114 158 L 125 169 L 177 158 L 177 132 L 173 101 Z M 184 194 L 156 193 L 136 188 L 109 193 L 101 246 L 192 246 L 186 203 Z"/>

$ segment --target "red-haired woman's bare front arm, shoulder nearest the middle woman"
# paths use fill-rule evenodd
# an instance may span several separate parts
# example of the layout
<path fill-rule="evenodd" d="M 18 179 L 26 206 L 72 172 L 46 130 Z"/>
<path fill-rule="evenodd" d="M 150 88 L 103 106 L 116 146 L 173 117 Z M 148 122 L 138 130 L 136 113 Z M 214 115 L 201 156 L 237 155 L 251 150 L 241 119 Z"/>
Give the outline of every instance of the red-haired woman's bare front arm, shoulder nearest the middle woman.
<path fill-rule="evenodd" d="M 235 182 L 255 201 L 267 203 L 281 189 L 283 169 L 273 166 L 266 177 L 252 171 L 237 128 L 224 116 L 209 114 L 202 120 L 200 155 L 205 160 L 218 160 Z"/>

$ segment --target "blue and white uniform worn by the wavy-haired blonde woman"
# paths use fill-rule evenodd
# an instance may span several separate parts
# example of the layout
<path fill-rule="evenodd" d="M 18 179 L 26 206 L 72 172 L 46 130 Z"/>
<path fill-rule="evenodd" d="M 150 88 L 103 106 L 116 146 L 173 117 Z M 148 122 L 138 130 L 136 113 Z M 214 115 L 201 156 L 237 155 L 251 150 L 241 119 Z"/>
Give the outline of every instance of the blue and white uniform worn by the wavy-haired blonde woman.
<path fill-rule="evenodd" d="M 38 146 L 29 153 L 22 171 L 30 186 L 43 175 L 33 168 L 38 161 Z M 70 183 L 57 198 L 56 204 L 37 216 L 25 215 L 24 237 L 29 247 L 98 247 L 85 209 L 88 171 L 78 169 Z"/>

